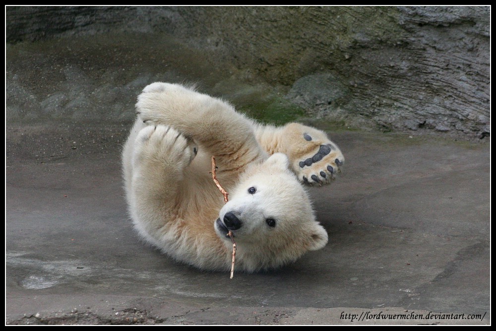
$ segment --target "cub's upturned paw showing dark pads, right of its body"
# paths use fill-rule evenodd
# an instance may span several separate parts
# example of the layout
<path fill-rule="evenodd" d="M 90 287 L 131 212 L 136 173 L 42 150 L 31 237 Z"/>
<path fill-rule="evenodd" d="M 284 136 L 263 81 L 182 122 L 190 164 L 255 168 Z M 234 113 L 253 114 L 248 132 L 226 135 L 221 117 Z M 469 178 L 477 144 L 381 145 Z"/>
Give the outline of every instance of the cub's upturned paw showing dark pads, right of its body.
<path fill-rule="evenodd" d="M 328 184 L 344 164 L 344 156 L 327 135 L 317 129 L 290 124 L 284 130 L 287 155 L 298 179 L 310 185 Z"/>

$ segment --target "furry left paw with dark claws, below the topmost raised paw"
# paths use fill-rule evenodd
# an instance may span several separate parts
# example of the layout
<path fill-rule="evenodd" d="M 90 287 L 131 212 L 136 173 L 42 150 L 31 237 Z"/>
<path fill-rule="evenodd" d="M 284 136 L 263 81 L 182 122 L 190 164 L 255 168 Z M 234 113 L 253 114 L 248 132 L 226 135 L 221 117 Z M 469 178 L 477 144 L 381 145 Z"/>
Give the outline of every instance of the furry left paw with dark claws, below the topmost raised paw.
<path fill-rule="evenodd" d="M 183 169 L 196 156 L 198 146 L 171 127 L 150 125 L 141 129 L 135 139 L 135 166 Z"/>

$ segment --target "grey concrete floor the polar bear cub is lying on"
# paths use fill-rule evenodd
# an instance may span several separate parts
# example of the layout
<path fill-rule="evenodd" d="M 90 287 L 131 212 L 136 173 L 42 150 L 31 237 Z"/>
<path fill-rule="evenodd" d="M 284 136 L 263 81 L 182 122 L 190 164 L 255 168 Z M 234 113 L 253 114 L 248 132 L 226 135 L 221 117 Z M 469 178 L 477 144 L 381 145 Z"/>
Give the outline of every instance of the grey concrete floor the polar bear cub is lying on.
<path fill-rule="evenodd" d="M 12 57 L 30 47 L 7 52 L 7 86 L 27 75 L 33 62 Z M 133 231 L 119 160 L 128 119 L 31 111 L 6 123 L 7 325 L 491 323 L 489 144 L 328 130 L 344 172 L 310 193 L 329 244 L 229 279 L 173 262 Z"/>

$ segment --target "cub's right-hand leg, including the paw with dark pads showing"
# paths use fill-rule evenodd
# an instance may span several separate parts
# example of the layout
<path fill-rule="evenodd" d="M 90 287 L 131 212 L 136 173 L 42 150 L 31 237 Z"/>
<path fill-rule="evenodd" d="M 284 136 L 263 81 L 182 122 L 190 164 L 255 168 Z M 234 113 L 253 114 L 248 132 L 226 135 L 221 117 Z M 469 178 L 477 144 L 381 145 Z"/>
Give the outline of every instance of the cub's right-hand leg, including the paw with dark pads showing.
<path fill-rule="evenodd" d="M 310 185 L 328 184 L 344 164 L 338 146 L 325 132 L 290 123 L 281 128 L 259 126 L 255 131 L 259 144 L 269 154 L 284 153 L 298 179 Z"/>

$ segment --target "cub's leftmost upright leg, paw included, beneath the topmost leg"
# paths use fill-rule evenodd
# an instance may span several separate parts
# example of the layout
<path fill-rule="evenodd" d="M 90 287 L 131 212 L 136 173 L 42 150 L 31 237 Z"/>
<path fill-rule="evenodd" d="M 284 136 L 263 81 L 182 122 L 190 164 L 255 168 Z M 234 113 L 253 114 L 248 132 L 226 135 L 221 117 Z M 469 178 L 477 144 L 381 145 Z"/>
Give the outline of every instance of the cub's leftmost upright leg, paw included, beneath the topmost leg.
<path fill-rule="evenodd" d="M 180 132 L 162 125 L 144 127 L 131 143 L 131 176 L 125 183 L 129 210 L 141 234 L 156 243 L 160 229 L 181 207 L 176 198 L 184 169 L 197 147 Z"/>

